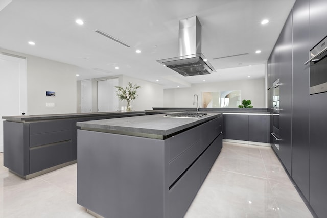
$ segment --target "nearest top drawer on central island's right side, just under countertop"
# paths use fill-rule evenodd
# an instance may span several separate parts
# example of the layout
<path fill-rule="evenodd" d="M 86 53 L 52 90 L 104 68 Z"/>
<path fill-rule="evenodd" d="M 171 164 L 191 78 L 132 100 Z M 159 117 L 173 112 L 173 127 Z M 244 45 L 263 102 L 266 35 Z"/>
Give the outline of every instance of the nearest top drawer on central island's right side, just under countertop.
<path fill-rule="evenodd" d="M 169 138 L 169 161 L 176 158 L 199 140 L 199 128 L 200 126 Z"/>

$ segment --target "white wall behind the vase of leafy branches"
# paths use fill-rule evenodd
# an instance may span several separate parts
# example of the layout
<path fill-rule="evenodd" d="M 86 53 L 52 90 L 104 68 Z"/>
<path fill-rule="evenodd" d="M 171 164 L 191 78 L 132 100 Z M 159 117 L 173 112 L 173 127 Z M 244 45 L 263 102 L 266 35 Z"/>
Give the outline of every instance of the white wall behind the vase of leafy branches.
<path fill-rule="evenodd" d="M 124 75 L 114 76 L 114 77 L 105 77 L 105 78 L 96 78 L 92 79 L 92 111 L 97 111 L 97 80 L 110 79 L 110 78 L 119 78 L 119 86 L 124 88 L 127 86 L 128 82 L 136 83 L 141 86 L 137 89 L 137 98 L 131 101 L 134 111 L 144 111 L 152 110 L 152 107 L 163 107 L 164 106 L 164 88 L 162 85 L 156 83 L 148 82 L 145 80 L 140 80 Z M 81 99 L 81 81 L 77 81 L 77 112 L 80 112 L 80 99 Z M 122 106 L 127 106 L 126 101 L 119 101 L 119 110 Z"/>

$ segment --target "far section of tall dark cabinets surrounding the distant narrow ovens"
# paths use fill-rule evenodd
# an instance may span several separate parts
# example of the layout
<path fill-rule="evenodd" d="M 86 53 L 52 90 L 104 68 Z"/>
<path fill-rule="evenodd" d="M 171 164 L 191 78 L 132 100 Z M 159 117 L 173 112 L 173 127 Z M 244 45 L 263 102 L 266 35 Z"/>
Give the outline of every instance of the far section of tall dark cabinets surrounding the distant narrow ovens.
<path fill-rule="evenodd" d="M 268 87 L 279 78 L 280 112 L 279 130 L 281 140 L 276 151 L 288 173 L 292 174 L 292 12 L 288 16 L 281 34 L 268 60 Z M 270 83 L 270 84 L 269 84 Z M 272 99 L 272 88 L 268 89 Z M 268 105 L 272 106 L 272 102 Z M 273 140 L 271 140 L 273 141 Z"/>

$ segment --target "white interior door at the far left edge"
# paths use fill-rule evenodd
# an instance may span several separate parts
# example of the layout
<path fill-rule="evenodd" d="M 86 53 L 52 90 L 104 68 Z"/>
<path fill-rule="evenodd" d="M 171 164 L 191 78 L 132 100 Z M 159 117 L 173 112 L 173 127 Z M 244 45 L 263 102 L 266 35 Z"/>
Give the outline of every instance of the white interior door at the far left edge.
<path fill-rule="evenodd" d="M 2 116 L 27 115 L 26 58 L 0 53 L 0 152 L 4 151 Z"/>

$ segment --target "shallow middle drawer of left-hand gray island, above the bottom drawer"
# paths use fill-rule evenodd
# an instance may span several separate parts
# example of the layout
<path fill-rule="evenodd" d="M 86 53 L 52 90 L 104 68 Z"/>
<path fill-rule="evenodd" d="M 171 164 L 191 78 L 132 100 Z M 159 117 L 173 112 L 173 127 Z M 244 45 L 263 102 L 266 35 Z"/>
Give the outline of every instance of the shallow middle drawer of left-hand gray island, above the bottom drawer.
<path fill-rule="evenodd" d="M 30 135 L 30 147 L 71 140 L 71 138 L 72 138 L 71 130 L 34 134 L 34 135 Z"/>

